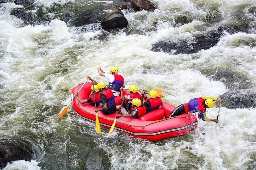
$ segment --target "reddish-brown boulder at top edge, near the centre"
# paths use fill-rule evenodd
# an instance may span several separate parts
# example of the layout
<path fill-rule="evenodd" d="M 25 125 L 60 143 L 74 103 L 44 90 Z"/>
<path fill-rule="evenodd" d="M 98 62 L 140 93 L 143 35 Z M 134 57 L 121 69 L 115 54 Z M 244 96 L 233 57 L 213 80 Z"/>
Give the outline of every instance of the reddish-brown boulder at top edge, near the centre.
<path fill-rule="evenodd" d="M 150 10 L 154 11 L 155 6 L 149 0 L 132 0 L 131 5 L 134 11 Z"/>

